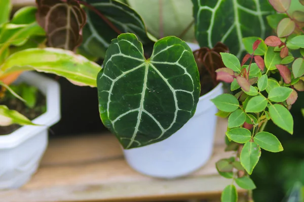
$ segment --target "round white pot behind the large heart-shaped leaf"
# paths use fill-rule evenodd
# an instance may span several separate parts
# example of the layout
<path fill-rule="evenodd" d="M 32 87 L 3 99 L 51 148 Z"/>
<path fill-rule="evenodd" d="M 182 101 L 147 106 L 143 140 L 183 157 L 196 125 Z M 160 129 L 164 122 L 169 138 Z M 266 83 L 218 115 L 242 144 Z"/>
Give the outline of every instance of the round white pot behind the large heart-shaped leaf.
<path fill-rule="evenodd" d="M 189 44 L 195 50 L 197 44 Z M 222 84 L 200 97 L 195 115 L 169 138 L 147 146 L 124 149 L 136 171 L 159 178 L 187 175 L 202 167 L 212 155 L 217 108 L 210 99 L 223 93 Z"/>

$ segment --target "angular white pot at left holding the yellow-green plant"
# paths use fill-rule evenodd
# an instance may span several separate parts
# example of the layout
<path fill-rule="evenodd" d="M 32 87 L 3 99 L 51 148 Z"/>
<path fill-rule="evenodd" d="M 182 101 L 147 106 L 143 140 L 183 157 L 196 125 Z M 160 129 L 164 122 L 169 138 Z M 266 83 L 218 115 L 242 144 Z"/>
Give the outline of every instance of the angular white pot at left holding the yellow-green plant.
<path fill-rule="evenodd" d="M 47 112 L 32 122 L 41 126 L 22 126 L 0 135 L 0 189 L 18 188 L 37 170 L 48 144 L 48 128 L 60 119 L 59 84 L 37 73 L 23 73 L 17 82 L 36 86 L 46 95 Z"/>

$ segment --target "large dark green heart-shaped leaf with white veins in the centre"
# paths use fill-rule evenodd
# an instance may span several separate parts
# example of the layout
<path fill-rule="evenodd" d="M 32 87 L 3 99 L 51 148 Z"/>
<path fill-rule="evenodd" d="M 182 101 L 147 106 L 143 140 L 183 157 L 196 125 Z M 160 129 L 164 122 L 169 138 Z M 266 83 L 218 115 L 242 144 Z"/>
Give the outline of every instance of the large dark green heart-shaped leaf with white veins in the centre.
<path fill-rule="evenodd" d="M 194 115 L 199 72 L 191 48 L 179 38 L 160 39 L 146 60 L 137 37 L 120 34 L 103 67 L 97 77 L 100 117 L 125 149 L 162 141 Z"/>

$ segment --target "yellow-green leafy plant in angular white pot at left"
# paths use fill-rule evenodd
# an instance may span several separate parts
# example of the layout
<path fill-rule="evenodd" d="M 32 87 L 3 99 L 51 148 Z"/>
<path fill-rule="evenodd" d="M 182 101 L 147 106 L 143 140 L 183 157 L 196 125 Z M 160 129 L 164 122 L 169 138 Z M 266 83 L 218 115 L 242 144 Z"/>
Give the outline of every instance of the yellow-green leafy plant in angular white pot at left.
<path fill-rule="evenodd" d="M 57 82 L 37 73 L 21 73 L 25 70 L 49 72 L 65 76 L 73 83 L 94 86 L 100 67 L 70 51 L 40 48 L 46 37 L 35 21 L 36 8 L 22 8 L 9 21 L 10 2 L 2 3 L 0 189 L 7 189 L 20 187 L 36 171 L 47 146 L 48 127 L 60 119 Z M 40 105 L 36 106 L 38 102 Z"/>

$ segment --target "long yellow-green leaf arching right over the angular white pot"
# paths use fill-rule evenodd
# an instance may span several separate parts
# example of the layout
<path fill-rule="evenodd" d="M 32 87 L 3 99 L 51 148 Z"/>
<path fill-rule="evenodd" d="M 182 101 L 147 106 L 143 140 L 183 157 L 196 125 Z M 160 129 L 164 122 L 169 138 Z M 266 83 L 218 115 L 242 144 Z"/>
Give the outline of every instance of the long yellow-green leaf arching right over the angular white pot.
<path fill-rule="evenodd" d="M 81 55 L 59 48 L 28 48 L 11 55 L 0 66 L 2 77 L 16 72 L 36 70 L 67 78 L 77 85 L 96 86 L 101 67 Z"/>

